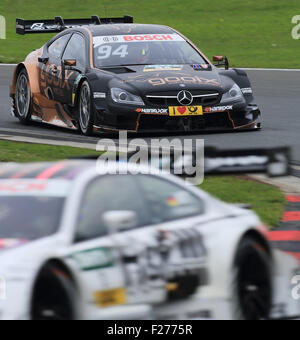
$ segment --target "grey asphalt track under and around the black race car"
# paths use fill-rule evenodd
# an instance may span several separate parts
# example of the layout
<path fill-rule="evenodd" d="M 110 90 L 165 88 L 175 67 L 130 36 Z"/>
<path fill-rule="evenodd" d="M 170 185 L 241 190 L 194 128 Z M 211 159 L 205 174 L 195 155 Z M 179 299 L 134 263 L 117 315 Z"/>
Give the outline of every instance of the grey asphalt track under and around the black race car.
<path fill-rule="evenodd" d="M 99 138 L 116 138 L 114 134 L 95 137 L 81 136 L 76 131 L 43 124 L 21 125 L 10 114 L 9 85 L 13 67 L 0 65 L 0 134 L 10 133 L 27 137 L 53 139 L 79 143 L 97 143 Z M 255 97 L 263 114 L 263 129 L 254 132 L 182 134 L 178 137 L 204 139 L 206 146 L 219 149 L 245 149 L 259 147 L 290 146 L 293 164 L 300 165 L 300 72 L 280 70 L 247 71 Z M 163 135 L 143 135 L 143 138 L 170 137 Z M 141 137 L 138 134 L 130 138 Z"/>

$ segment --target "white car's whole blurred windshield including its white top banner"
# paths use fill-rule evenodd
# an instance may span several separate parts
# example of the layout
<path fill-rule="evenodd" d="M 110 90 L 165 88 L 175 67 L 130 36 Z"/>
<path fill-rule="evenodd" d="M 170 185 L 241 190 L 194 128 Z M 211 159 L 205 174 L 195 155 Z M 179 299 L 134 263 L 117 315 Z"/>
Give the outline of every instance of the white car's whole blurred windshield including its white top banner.
<path fill-rule="evenodd" d="M 34 240 L 59 227 L 66 180 L 0 180 L 0 239 Z"/>

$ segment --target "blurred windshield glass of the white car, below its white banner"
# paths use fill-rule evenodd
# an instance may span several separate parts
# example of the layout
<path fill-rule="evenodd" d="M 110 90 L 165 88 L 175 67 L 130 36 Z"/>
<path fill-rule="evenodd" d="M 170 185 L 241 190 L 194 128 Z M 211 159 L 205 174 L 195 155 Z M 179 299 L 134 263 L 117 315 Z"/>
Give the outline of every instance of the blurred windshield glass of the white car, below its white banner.
<path fill-rule="evenodd" d="M 0 196 L 0 238 L 35 240 L 57 232 L 64 198 Z"/>

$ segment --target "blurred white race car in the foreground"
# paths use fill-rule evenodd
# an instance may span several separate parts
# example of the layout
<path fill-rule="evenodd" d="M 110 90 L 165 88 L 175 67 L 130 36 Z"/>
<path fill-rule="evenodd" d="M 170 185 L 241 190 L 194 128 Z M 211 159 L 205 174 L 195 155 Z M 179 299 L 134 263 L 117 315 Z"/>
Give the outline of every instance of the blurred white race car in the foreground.
<path fill-rule="evenodd" d="M 1 166 L 2 319 L 300 314 L 297 262 L 271 249 L 253 212 L 171 175 L 99 174 L 95 164 Z"/>

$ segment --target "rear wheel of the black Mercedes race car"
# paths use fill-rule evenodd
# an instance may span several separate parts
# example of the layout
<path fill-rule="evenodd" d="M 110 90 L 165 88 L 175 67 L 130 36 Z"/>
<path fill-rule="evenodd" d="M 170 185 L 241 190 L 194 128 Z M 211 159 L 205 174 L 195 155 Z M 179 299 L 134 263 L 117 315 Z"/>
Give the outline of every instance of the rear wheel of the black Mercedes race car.
<path fill-rule="evenodd" d="M 32 115 L 31 89 L 28 73 L 23 68 L 17 77 L 16 94 L 13 98 L 13 110 L 15 116 L 23 124 L 28 124 Z"/>

